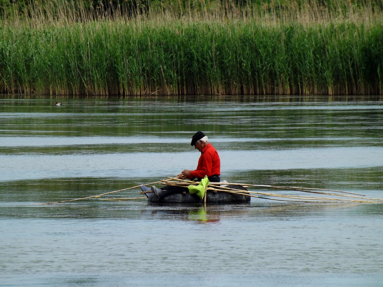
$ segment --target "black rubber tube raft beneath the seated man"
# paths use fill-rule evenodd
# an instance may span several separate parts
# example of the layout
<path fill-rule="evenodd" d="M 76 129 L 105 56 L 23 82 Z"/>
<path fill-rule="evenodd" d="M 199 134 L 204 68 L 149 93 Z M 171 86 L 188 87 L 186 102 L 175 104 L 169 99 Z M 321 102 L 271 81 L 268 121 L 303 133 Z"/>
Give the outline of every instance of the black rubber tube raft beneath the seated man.
<path fill-rule="evenodd" d="M 246 193 L 247 189 L 243 186 L 238 185 L 228 185 L 227 188 L 240 189 Z M 240 191 L 237 191 L 240 192 Z M 157 196 L 152 192 L 145 194 L 149 203 L 204 203 L 203 199 L 198 197 L 196 194 L 186 194 L 176 193 L 172 195 L 165 196 L 162 199 L 158 199 Z M 206 192 L 206 203 L 207 204 L 221 204 L 221 203 L 238 203 L 238 202 L 250 202 L 250 196 L 224 192 L 224 191 L 210 191 Z"/>

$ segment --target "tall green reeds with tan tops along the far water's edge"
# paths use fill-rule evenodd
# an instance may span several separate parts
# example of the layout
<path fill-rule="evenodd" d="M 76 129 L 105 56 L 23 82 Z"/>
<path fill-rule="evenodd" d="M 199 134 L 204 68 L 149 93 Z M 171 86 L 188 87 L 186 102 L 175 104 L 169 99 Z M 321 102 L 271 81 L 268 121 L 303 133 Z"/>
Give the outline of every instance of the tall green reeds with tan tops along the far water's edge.
<path fill-rule="evenodd" d="M 0 92 L 381 95 L 381 7 L 294 3 L 134 18 L 36 8 L 2 20 Z"/>

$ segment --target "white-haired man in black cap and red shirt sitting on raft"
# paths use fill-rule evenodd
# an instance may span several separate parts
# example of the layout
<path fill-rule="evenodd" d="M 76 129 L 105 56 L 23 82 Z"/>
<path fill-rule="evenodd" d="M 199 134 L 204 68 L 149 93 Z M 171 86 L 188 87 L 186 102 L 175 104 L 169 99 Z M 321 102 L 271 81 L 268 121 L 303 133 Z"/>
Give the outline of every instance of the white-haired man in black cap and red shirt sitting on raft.
<path fill-rule="evenodd" d="M 216 149 L 209 143 L 208 137 L 203 132 L 196 132 L 191 139 L 190 145 L 201 152 L 198 165 L 195 170 L 183 170 L 178 174 L 180 179 L 197 179 L 200 181 L 205 175 L 208 176 L 210 182 L 219 182 L 219 175 L 221 174 L 221 161 Z M 152 191 L 155 196 L 162 199 L 165 196 L 175 193 L 188 192 L 187 188 L 178 186 L 165 186 L 161 189 L 152 186 L 151 189 L 144 186 L 141 187 L 142 191 Z"/>

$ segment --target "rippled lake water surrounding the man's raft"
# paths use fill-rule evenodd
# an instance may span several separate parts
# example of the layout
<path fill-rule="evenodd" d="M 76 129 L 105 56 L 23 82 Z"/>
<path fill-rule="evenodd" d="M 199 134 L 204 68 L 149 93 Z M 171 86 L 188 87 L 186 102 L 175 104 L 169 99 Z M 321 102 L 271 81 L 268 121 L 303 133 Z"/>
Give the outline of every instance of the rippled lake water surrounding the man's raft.
<path fill-rule="evenodd" d="M 194 169 L 198 130 L 219 152 L 222 180 L 383 198 L 383 101 L 57 100 L 0 99 L 0 286 L 382 285 L 380 203 L 106 200 L 139 188 L 42 203 Z"/>

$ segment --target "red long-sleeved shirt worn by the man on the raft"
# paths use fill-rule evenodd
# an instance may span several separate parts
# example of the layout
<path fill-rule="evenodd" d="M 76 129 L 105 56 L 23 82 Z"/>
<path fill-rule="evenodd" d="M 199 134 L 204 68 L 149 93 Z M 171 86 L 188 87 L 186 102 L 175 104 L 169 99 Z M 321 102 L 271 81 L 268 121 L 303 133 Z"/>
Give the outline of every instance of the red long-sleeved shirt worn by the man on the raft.
<path fill-rule="evenodd" d="M 191 177 L 204 178 L 205 175 L 220 175 L 221 174 L 221 160 L 219 159 L 216 149 L 208 143 L 201 151 L 200 159 L 196 170 L 191 171 Z"/>

